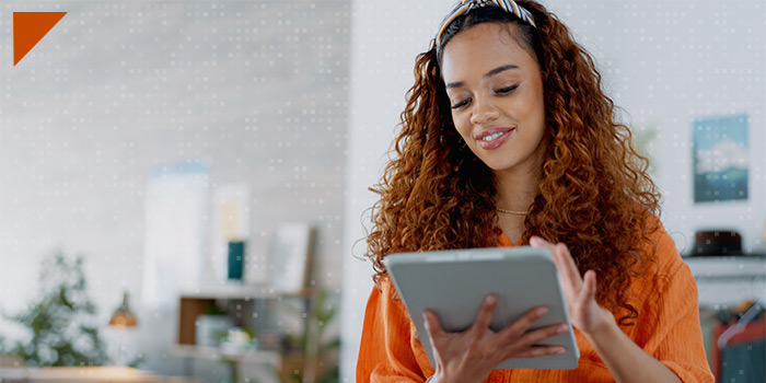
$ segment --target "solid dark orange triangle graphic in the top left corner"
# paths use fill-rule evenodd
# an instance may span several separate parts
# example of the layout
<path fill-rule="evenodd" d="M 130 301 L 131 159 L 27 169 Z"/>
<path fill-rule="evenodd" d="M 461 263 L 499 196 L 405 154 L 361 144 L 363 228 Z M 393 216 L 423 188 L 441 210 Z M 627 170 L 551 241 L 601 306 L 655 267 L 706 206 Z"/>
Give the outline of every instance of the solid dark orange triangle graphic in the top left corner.
<path fill-rule="evenodd" d="M 13 66 L 39 43 L 67 12 L 13 12 Z"/>

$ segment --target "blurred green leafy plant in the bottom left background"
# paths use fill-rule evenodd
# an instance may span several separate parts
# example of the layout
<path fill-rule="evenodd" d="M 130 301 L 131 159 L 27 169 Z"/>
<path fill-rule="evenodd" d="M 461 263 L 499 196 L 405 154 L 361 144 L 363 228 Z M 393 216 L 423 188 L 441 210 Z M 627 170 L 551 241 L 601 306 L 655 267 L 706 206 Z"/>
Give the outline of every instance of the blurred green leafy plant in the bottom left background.
<path fill-rule="evenodd" d="M 88 295 L 82 257 L 45 257 L 36 302 L 8 317 L 26 328 L 28 337 L 8 351 L 32 367 L 102 365 L 108 363 L 98 335 L 96 307 Z"/>

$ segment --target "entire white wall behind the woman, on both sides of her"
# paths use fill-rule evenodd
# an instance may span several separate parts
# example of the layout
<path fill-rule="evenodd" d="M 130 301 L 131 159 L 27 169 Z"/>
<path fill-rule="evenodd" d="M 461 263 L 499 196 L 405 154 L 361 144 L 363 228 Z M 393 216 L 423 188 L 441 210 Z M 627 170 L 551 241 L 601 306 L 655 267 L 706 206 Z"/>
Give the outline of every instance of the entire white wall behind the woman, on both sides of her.
<path fill-rule="evenodd" d="M 453 1 L 353 1 L 351 117 L 344 246 L 363 239 L 367 192 L 380 177 L 381 154 L 393 139 L 417 53 L 425 50 Z M 763 0 L 546 1 L 595 57 L 605 88 L 634 126 L 661 132 L 658 183 L 663 221 L 685 251 L 693 232 L 712 224 L 743 233 L 763 248 L 766 221 L 766 7 Z M 692 120 L 746 112 L 751 116 L 751 200 L 693 205 Z M 688 244 L 690 245 L 690 243 Z M 355 247 L 361 254 L 364 243 Z M 344 382 L 353 382 L 370 263 L 344 257 Z"/>

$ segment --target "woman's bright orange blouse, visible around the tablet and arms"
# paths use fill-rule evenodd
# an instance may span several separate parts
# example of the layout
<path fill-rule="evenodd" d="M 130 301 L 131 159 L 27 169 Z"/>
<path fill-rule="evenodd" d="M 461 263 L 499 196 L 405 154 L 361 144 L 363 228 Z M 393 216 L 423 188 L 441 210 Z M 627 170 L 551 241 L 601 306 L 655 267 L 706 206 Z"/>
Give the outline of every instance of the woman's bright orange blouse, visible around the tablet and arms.
<path fill-rule="evenodd" d="M 658 268 L 635 278 L 628 302 L 639 313 L 632 326 L 620 328 L 646 352 L 673 371 L 682 382 L 713 382 L 703 347 L 697 285 L 662 227 L 651 235 Z M 500 246 L 513 246 L 502 235 Z M 367 304 L 357 382 L 423 382 L 434 373 L 402 300 L 381 279 Z M 576 328 L 580 349 L 574 370 L 495 370 L 484 382 L 614 382 L 593 346 Z"/>

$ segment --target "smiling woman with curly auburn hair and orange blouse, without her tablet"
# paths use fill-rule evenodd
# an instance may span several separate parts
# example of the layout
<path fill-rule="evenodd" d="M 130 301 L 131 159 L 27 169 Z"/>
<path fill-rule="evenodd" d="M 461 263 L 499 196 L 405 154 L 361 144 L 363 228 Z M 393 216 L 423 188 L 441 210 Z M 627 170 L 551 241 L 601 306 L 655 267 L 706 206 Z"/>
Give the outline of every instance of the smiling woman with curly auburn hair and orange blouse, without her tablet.
<path fill-rule="evenodd" d="M 712 382 L 696 286 L 657 219 L 647 162 L 567 27 L 533 1 L 463 1 L 415 73 L 395 159 L 373 189 L 376 287 L 357 382 Z M 381 264 L 397 252 L 526 244 L 554 254 L 576 370 L 495 370 L 561 352 L 535 344 L 567 328 L 531 329 L 546 312 L 536 307 L 495 333 L 494 295 L 464 333 L 422 313 L 419 338 Z"/>

